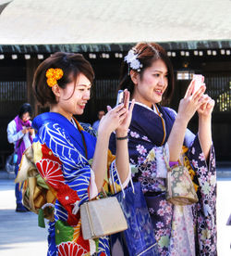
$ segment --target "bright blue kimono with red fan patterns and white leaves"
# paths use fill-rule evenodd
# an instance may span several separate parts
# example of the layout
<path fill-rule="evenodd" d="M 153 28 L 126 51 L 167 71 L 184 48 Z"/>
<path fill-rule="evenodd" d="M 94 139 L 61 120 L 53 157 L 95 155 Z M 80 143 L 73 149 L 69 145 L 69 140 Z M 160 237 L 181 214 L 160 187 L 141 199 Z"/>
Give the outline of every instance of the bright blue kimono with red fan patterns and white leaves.
<path fill-rule="evenodd" d="M 84 240 L 81 234 L 79 206 L 90 198 L 90 162 L 96 138 L 74 122 L 76 125 L 57 113 L 43 113 L 32 123 L 38 131 L 34 160 L 57 198 L 55 221 L 49 223 L 47 255 L 110 255 L 108 237 Z M 109 152 L 109 174 L 117 180 L 113 160 Z M 108 188 L 107 179 L 104 187 Z"/>

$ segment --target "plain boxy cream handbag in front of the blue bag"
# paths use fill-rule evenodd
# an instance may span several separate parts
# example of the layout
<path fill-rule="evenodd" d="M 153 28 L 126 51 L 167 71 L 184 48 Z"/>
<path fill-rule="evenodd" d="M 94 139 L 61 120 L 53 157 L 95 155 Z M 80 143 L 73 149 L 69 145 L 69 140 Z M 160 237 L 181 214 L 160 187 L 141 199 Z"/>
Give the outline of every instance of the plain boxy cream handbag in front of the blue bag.
<path fill-rule="evenodd" d="M 116 197 L 101 198 L 80 206 L 82 236 L 85 240 L 112 235 L 128 229 Z"/>

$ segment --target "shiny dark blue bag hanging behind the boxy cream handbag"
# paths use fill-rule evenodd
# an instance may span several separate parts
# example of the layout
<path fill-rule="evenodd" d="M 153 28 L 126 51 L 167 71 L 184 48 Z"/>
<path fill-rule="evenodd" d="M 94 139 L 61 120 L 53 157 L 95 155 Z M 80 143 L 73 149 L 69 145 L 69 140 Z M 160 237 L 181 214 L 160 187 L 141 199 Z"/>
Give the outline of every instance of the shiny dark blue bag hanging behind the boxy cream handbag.
<path fill-rule="evenodd" d="M 128 229 L 110 236 L 111 253 L 113 256 L 158 255 L 154 227 L 140 182 L 130 181 L 130 184 L 114 195 L 124 211 Z"/>

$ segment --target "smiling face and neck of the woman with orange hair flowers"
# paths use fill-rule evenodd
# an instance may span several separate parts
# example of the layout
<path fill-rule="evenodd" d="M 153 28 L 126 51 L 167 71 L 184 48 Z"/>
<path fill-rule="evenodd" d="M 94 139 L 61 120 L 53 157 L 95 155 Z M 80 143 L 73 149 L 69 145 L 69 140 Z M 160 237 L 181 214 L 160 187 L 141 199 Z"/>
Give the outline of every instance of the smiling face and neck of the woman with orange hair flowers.
<path fill-rule="evenodd" d="M 73 115 L 81 115 L 90 99 L 91 82 L 89 79 L 80 73 L 76 86 L 74 81 L 67 83 L 65 89 L 58 85 L 55 86 L 57 87 L 54 93 L 58 103 L 51 110 L 62 114 L 68 120 L 71 120 Z"/>

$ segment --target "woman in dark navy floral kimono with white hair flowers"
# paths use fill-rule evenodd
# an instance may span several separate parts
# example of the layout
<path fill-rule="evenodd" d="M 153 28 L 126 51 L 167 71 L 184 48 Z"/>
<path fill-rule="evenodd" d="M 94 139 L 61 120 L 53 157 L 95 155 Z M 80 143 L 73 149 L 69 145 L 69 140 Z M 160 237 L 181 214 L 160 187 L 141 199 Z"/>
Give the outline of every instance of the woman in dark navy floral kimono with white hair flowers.
<path fill-rule="evenodd" d="M 204 94 L 205 84 L 193 80 L 181 99 L 178 112 L 163 107 L 174 91 L 174 73 L 164 49 L 139 43 L 128 51 L 122 66 L 120 89 L 128 88 L 135 99 L 128 130 L 130 163 L 137 170 L 145 195 L 160 255 L 216 255 L 216 174 L 211 119 L 214 101 Z M 162 104 L 161 104 L 162 103 Z M 198 112 L 198 134 L 188 122 Z M 110 139 L 116 148 L 115 135 Z M 166 165 L 178 160 L 188 167 L 199 201 L 176 206 L 165 199 Z"/>

